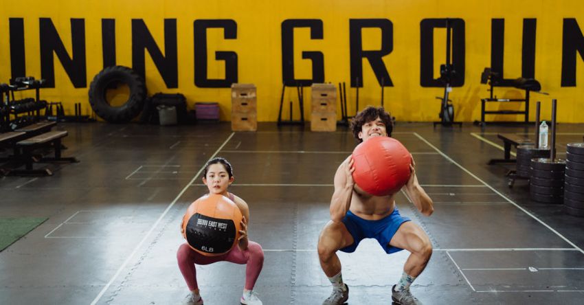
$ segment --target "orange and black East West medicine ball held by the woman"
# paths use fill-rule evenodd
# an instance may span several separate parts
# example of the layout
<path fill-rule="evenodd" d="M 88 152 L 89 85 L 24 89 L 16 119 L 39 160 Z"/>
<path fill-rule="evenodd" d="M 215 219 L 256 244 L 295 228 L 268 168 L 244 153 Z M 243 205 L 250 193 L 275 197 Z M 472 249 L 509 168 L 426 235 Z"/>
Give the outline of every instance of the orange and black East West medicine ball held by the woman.
<path fill-rule="evenodd" d="M 183 237 L 204 256 L 220 256 L 231 250 L 239 238 L 243 216 L 231 199 L 210 194 L 196 199 L 183 217 Z"/>

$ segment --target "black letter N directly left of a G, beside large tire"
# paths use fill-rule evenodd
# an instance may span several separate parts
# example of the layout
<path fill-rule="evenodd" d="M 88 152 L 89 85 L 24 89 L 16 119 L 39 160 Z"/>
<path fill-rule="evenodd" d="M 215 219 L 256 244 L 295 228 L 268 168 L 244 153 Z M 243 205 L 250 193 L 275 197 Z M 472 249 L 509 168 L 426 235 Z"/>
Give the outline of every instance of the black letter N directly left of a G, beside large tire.
<path fill-rule="evenodd" d="M 146 76 L 144 49 L 152 57 L 166 87 L 179 87 L 177 19 L 164 19 L 164 56 L 144 20 L 132 19 L 132 68 L 143 78 Z"/>

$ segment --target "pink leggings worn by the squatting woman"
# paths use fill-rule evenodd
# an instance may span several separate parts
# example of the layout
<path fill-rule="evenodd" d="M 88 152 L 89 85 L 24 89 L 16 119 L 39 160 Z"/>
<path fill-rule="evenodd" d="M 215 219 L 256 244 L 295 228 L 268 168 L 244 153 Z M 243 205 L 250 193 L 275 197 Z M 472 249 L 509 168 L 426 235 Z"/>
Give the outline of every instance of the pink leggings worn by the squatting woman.
<path fill-rule="evenodd" d="M 222 256 L 203 256 L 203 254 L 194 251 L 189 247 L 188 243 L 184 243 L 177 251 L 177 260 L 179 261 L 179 269 L 183 273 L 183 277 L 187 282 L 188 289 L 193 291 L 199 289 L 196 284 L 196 271 L 194 264 L 212 264 L 214 262 L 234 262 L 236 264 L 246 264 L 245 267 L 245 289 L 252 290 L 258 280 L 258 276 L 262 271 L 264 265 L 264 251 L 262 246 L 257 242 L 249 240 L 247 249 L 241 251 L 237 245 L 231 251 Z"/>

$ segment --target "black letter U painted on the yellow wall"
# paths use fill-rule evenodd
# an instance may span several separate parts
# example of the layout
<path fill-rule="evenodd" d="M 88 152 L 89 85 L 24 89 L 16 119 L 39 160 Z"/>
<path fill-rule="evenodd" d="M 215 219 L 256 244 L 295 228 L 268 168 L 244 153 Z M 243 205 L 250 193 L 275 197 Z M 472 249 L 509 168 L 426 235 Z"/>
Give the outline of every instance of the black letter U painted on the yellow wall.
<path fill-rule="evenodd" d="M 521 77 L 535 77 L 535 32 L 536 19 L 524 19 L 521 44 Z M 498 87 L 513 87 L 515 78 L 504 77 L 505 19 L 491 20 L 491 71 L 499 74 Z"/>

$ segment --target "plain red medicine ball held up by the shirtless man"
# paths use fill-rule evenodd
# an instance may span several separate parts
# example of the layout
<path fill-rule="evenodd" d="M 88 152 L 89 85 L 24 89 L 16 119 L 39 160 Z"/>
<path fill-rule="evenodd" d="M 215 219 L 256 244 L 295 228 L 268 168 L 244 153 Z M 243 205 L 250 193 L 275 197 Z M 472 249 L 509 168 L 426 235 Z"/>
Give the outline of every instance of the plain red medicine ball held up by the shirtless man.
<path fill-rule="evenodd" d="M 398 140 L 372 137 L 355 147 L 353 180 L 368 194 L 388 196 L 409 180 L 412 156 Z"/>

